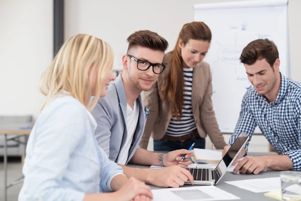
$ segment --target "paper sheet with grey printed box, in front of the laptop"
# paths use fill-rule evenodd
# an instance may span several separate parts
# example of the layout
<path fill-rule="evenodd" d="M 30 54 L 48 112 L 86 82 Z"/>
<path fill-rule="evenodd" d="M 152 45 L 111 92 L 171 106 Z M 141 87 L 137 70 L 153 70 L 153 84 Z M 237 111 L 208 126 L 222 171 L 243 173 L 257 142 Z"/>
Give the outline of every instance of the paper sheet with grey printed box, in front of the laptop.
<path fill-rule="evenodd" d="M 221 190 L 213 185 L 197 187 L 163 188 L 152 190 L 154 201 L 209 201 L 209 200 L 235 200 L 239 197 Z"/>

